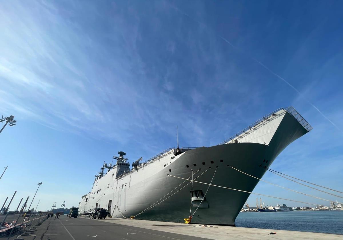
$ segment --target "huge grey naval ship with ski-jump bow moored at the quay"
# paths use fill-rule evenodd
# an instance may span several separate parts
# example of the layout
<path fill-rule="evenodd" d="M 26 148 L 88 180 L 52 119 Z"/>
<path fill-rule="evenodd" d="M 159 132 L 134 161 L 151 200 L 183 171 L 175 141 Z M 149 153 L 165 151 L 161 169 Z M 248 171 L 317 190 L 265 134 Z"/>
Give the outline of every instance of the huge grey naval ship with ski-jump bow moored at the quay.
<path fill-rule="evenodd" d="M 262 178 L 281 151 L 311 129 L 288 107 L 264 116 L 218 145 L 168 148 L 143 163 L 138 159 L 131 169 L 126 154 L 119 152 L 114 156 L 115 165 L 101 167 L 92 191 L 81 197 L 79 211 L 91 213 L 100 207 L 117 218 L 143 211 L 135 218 L 180 222 L 188 218 L 190 208 L 194 212 L 200 204 L 192 223 L 234 226 L 249 193 L 211 186 L 205 195 L 208 185 L 193 182 L 191 187 L 190 181 L 169 175 L 191 179 L 193 173 L 199 182 L 210 183 L 213 178 L 212 184 L 252 192 L 259 180 L 229 166 Z"/>

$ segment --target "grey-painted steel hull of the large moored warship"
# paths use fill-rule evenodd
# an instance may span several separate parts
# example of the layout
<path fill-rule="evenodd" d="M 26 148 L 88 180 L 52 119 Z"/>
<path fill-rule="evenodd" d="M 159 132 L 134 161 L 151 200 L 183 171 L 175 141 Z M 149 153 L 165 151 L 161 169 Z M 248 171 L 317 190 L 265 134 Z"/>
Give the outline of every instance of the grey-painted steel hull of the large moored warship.
<path fill-rule="evenodd" d="M 151 164 L 155 164 L 155 166 L 132 171 L 130 175 L 121 179 L 113 179 L 108 173 L 95 182 L 92 192 L 82 198 L 79 207 L 81 211 L 87 211 L 95 207 L 97 203 L 100 207 L 108 208 L 108 203 L 111 201 L 110 208 L 114 217 L 134 216 L 152 206 L 156 201 L 158 202 L 184 181 L 168 176 L 168 174 L 189 178 L 192 175 L 192 169 L 193 178 L 203 173 L 196 181 L 210 183 L 216 169 L 212 184 L 252 192 L 258 180 L 244 175 L 228 165 L 257 178 L 262 178 L 266 171 L 264 167 L 269 167 L 288 144 L 307 133 L 307 130 L 288 112 L 279 121 L 280 123 L 277 123 L 277 127 L 272 131 L 273 135 L 269 145 L 240 142 L 199 147 L 182 153 L 173 160 L 171 157 L 174 155 L 168 155 L 156 161 L 156 164 Z M 166 166 L 164 167 L 164 165 Z M 105 190 L 105 193 L 95 193 L 94 189 L 105 188 L 109 184 L 111 185 L 107 191 Z M 188 185 L 181 189 L 186 184 Z M 208 185 L 193 182 L 193 190 L 202 190 L 205 193 L 207 188 Z M 181 190 L 178 191 L 179 189 Z M 176 191 L 178 192 L 175 193 Z M 168 196 L 170 197 L 166 199 Z M 195 210 L 193 206 L 190 207 L 191 184 L 189 181 L 183 183 L 166 197 L 163 198 L 166 199 L 165 201 L 136 218 L 182 222 L 189 216 L 190 208 L 192 213 Z M 211 186 L 206 194 L 209 207 L 199 208 L 192 218 L 192 223 L 234 225 L 235 219 L 248 197 L 249 193 Z M 87 202 L 85 202 L 86 198 Z"/>

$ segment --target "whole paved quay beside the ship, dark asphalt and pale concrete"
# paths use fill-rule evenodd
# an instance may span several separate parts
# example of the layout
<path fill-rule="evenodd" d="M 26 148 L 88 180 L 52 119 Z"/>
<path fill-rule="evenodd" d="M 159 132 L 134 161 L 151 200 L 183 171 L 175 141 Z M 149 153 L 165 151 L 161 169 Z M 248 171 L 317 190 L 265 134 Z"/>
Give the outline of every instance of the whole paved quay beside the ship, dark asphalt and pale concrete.
<path fill-rule="evenodd" d="M 269 235 L 276 232 L 275 235 Z M 0 240 L 8 236 L 0 237 Z M 10 238 L 11 240 L 13 239 Z M 107 218 L 93 220 L 85 217 L 67 218 L 60 216 L 44 220 L 38 226 L 23 232 L 17 237 L 21 240 L 227 240 L 227 239 L 340 239 L 343 235 L 286 231 L 275 229 L 242 228 L 216 225 L 181 224 L 138 219 Z"/>

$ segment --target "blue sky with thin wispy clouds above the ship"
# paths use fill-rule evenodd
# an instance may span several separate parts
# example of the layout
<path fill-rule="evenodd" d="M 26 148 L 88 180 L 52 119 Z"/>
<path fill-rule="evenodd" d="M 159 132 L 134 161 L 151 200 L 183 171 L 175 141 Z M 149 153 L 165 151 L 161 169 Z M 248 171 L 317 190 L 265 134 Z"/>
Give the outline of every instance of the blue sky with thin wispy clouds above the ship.
<path fill-rule="evenodd" d="M 17 125 L 0 135 L 1 166 L 9 166 L 1 203 L 14 190 L 13 206 L 32 199 L 43 182 L 34 207 L 39 199 L 40 210 L 64 200 L 77 205 L 118 151 L 130 162 L 150 158 L 176 146 L 176 125 L 181 146 L 215 145 L 287 106 L 314 129 L 272 168 L 342 191 L 342 7 L 340 1 L 2 2 L 0 114 L 14 115 Z M 342 201 L 271 173 L 263 179 Z M 254 192 L 326 204 L 262 182 Z"/>

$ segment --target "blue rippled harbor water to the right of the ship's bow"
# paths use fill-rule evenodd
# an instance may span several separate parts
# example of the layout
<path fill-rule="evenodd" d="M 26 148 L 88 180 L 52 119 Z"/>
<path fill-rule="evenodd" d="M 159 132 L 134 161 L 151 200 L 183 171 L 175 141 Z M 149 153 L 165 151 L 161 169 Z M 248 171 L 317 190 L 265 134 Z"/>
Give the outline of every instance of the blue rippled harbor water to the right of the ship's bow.
<path fill-rule="evenodd" d="M 343 235 L 343 211 L 246 212 L 238 214 L 235 225 Z"/>

